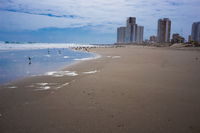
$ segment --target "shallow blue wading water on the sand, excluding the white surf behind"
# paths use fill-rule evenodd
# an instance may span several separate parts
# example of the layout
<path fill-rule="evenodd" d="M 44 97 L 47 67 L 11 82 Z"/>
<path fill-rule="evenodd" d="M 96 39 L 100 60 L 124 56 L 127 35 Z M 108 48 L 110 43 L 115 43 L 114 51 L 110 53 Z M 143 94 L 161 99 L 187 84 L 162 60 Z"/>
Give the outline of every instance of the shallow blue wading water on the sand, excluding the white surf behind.
<path fill-rule="evenodd" d="M 49 54 L 49 50 L 51 51 L 51 54 Z M 1 53 L 1 55 L 3 55 L 2 59 L 1 59 L 1 61 L 2 61 L 1 75 L 2 76 L 0 77 L 0 79 L 2 79 L 2 81 L 0 81 L 0 84 L 3 85 L 6 83 L 15 81 L 17 79 L 23 79 L 23 78 L 32 77 L 32 76 L 43 75 L 44 73 L 46 73 L 48 71 L 49 72 L 50 71 L 59 71 L 62 68 L 66 67 L 70 64 L 76 63 L 77 61 L 94 59 L 94 58 L 98 58 L 98 56 L 99 56 L 99 55 L 96 55 L 93 53 L 88 53 L 83 50 L 77 51 L 77 50 L 70 49 L 70 48 L 65 49 L 65 51 L 64 51 L 64 49 L 62 49 L 63 50 L 62 54 L 60 53 L 58 56 L 58 55 L 56 55 L 56 50 L 60 51 L 61 48 L 30 49 L 30 50 L 29 49 L 26 49 L 26 50 L 21 49 L 21 50 L 14 50 L 14 52 L 12 50 L 6 50 L 5 51 L 6 56 L 4 55 L 4 53 L 2 51 L 2 53 Z M 22 51 L 22 52 L 20 52 L 20 51 Z M 34 51 L 35 55 L 34 55 L 33 51 Z M 45 54 L 45 52 L 46 52 L 46 54 Z M 20 55 L 19 55 L 19 53 L 20 53 Z M 71 54 L 71 53 L 74 53 L 74 54 Z M 77 54 L 79 56 L 76 56 Z M 13 55 L 16 55 L 17 57 L 14 57 Z M 37 57 L 37 55 L 39 55 L 41 57 L 39 58 L 39 57 Z M 68 55 L 68 56 L 65 56 L 65 55 Z M 57 59 L 55 58 L 56 56 L 57 56 Z M 32 58 L 33 64 L 31 64 L 30 59 L 29 59 L 29 62 L 26 60 L 26 58 L 28 58 L 28 57 Z M 47 58 L 47 57 L 49 57 L 49 58 Z M 69 59 L 65 59 L 65 58 L 69 58 Z M 8 60 L 8 63 L 7 62 L 4 63 L 5 60 Z M 63 60 L 63 61 L 61 62 L 61 60 Z M 16 62 L 16 61 L 18 61 L 18 64 L 12 63 L 12 62 Z M 19 61 L 23 61 L 23 62 L 19 62 Z M 27 61 L 27 64 L 29 63 L 29 67 L 27 67 L 26 61 Z M 44 62 L 47 62 L 48 64 L 45 66 Z M 58 63 L 55 65 L 56 62 L 58 62 Z M 19 69 L 19 68 L 21 68 L 19 64 L 22 64 L 22 63 L 23 63 L 23 65 L 21 65 L 21 67 L 24 68 L 23 69 L 24 71 Z M 12 69 L 10 66 L 12 66 L 12 68 L 15 68 L 15 69 Z M 6 67 L 8 67 L 8 68 L 6 69 Z M 16 68 L 18 68 L 19 70 Z M 39 68 L 41 68 L 41 69 L 39 69 Z M 39 70 L 35 71 L 36 69 L 39 69 Z M 12 75 L 12 77 L 11 76 L 9 77 L 7 75 Z"/>

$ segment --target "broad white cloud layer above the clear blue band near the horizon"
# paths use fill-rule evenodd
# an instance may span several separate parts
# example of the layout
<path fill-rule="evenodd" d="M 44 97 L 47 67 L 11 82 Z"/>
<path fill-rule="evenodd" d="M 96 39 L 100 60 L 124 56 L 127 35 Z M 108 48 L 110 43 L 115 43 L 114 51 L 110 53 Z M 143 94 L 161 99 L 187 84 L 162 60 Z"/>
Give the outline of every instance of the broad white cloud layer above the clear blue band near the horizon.
<path fill-rule="evenodd" d="M 156 35 L 157 20 L 169 17 L 172 33 L 188 33 L 199 21 L 199 0 L 0 0 L 1 30 L 85 27 L 116 32 L 134 16 L 144 26 L 145 36 Z M 182 26 L 182 27 L 181 27 Z"/>

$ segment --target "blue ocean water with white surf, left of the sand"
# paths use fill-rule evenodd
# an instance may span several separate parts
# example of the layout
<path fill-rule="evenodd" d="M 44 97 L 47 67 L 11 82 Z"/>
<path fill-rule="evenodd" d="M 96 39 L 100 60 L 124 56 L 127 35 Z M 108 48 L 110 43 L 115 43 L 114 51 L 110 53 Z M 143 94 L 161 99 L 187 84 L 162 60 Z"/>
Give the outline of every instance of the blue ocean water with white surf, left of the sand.
<path fill-rule="evenodd" d="M 0 43 L 0 84 L 59 70 L 75 61 L 98 56 L 69 49 L 71 47 L 93 47 L 93 45 Z"/>

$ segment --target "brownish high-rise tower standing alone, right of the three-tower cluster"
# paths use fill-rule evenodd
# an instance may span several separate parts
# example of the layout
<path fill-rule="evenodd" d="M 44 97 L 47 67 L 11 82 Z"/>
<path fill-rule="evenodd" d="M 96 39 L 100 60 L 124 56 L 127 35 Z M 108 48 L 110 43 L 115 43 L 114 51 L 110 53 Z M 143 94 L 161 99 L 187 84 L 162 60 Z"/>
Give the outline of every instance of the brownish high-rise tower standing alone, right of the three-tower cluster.
<path fill-rule="evenodd" d="M 170 42 L 171 20 L 169 18 L 158 20 L 157 41 L 161 43 Z"/>

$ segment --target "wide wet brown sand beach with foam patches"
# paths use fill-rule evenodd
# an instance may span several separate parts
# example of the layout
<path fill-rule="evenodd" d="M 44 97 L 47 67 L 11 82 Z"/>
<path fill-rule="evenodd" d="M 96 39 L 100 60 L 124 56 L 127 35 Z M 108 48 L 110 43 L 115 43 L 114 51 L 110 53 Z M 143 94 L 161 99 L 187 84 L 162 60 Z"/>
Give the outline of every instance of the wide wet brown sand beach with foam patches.
<path fill-rule="evenodd" d="M 100 57 L 1 85 L 0 132 L 200 132 L 199 50 L 90 52 Z"/>

